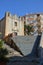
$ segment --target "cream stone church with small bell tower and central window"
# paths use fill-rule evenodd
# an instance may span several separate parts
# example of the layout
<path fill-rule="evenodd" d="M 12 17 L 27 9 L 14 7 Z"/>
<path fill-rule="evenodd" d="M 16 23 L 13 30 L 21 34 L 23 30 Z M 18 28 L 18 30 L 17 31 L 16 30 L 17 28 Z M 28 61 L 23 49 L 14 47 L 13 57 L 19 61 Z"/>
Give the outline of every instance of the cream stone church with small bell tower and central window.
<path fill-rule="evenodd" d="M 24 22 L 21 20 L 21 17 L 6 12 L 5 16 L 0 20 L 0 31 L 3 37 L 9 34 L 23 36 Z"/>

